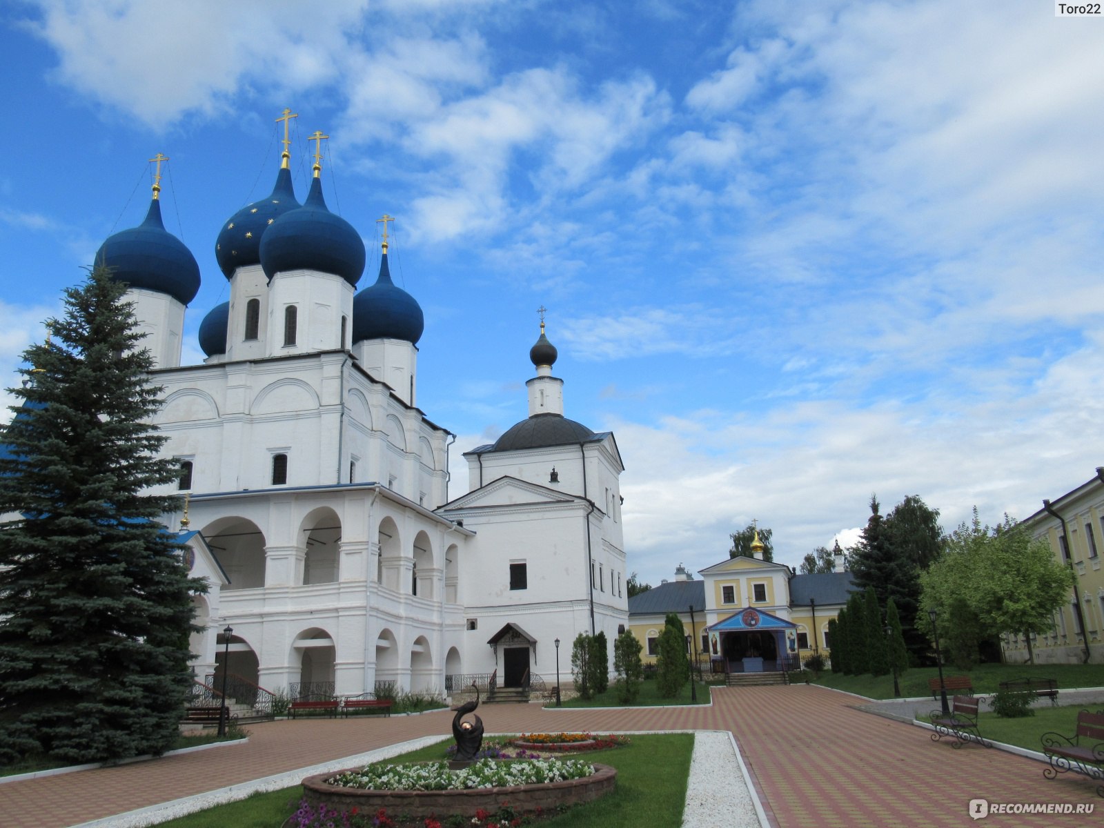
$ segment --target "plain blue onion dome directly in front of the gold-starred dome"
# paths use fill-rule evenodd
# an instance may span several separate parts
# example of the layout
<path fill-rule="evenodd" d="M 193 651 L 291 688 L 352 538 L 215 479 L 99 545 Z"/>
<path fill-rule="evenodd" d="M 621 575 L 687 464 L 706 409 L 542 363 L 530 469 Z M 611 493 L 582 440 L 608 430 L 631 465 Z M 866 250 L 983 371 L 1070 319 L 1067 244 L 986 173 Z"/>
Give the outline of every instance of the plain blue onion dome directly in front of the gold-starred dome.
<path fill-rule="evenodd" d="M 364 273 L 364 242 L 349 222 L 326 209 L 322 180 L 315 178 L 304 205 L 284 213 L 261 240 L 261 266 L 269 280 L 287 270 L 318 270 L 355 287 Z"/>

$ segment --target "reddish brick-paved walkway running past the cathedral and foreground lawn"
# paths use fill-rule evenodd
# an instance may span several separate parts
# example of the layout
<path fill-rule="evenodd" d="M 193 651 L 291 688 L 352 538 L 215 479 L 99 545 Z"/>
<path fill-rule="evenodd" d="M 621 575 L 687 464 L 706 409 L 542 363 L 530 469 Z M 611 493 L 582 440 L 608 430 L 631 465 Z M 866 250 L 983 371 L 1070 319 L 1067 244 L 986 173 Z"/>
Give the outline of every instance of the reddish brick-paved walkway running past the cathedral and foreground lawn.
<path fill-rule="evenodd" d="M 1072 774 L 1050 782 L 1043 765 L 1004 751 L 933 743 L 927 730 L 857 709 L 861 701 L 819 687 L 721 688 L 708 708 L 480 709 L 488 733 L 520 731 L 729 730 L 772 824 L 839 826 L 1082 826 L 1104 802 Z M 0 826 L 72 826 L 183 796 L 449 732 L 447 712 L 418 716 L 299 720 L 250 725 L 247 744 L 155 762 L 0 785 Z M 718 779 L 716 785 L 730 784 Z M 1091 817 L 967 816 L 970 799 L 1094 803 Z M 701 828 L 730 825 L 724 814 Z M 275 828 L 275 827 L 274 827 Z"/>

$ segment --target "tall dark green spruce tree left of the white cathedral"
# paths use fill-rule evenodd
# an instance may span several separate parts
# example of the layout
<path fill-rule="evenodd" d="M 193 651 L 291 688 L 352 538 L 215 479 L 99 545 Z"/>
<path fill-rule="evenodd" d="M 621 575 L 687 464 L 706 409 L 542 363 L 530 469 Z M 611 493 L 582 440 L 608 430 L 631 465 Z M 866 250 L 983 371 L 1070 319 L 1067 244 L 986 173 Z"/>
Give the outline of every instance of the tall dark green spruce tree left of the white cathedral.
<path fill-rule="evenodd" d="M 147 423 L 161 389 L 125 285 L 95 270 L 65 293 L 52 342 L 23 358 L 0 443 L 0 761 L 161 753 L 191 684 L 192 594 L 147 493 L 179 469 Z M 136 350 L 139 349 L 139 350 Z"/>

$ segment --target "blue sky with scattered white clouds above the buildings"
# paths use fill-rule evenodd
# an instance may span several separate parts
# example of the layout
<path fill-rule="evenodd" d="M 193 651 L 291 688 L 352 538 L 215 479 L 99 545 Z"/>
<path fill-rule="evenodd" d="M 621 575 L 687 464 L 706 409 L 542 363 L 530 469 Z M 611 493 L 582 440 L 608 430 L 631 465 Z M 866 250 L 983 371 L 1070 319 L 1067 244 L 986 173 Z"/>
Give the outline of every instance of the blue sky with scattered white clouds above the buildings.
<path fill-rule="evenodd" d="M 461 452 L 528 414 L 537 309 L 566 416 L 613 431 L 628 569 L 796 567 L 877 495 L 947 530 L 1104 464 L 1104 20 L 1047 0 L 12 0 L 0 9 L 0 372 L 112 233 L 200 264 L 267 194 L 290 107 L 421 304 L 417 403 Z M 4 403 L 9 404 L 7 395 Z M 459 449 L 459 450 L 456 450 Z"/>

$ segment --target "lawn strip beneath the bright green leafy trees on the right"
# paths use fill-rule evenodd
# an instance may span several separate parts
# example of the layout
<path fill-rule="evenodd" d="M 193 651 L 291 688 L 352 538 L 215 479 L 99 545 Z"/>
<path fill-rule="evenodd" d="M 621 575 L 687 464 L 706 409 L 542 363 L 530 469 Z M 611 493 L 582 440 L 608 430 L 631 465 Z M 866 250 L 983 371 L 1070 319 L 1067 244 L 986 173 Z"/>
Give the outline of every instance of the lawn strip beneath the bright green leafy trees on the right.
<path fill-rule="evenodd" d="M 1059 690 L 1075 687 L 1104 687 L 1104 665 L 977 665 L 973 670 L 959 670 L 951 665 L 943 667 L 944 678 L 951 676 L 969 676 L 974 681 L 974 692 L 995 693 L 1001 681 L 1022 678 L 1047 678 L 1058 682 Z M 901 684 L 901 696 L 931 696 L 927 689 L 928 679 L 937 679 L 935 667 L 912 667 L 898 680 Z M 871 699 L 892 699 L 892 676 L 842 676 L 824 672 L 814 684 L 846 690 Z M 1059 701 L 1062 697 L 1059 693 Z"/>

